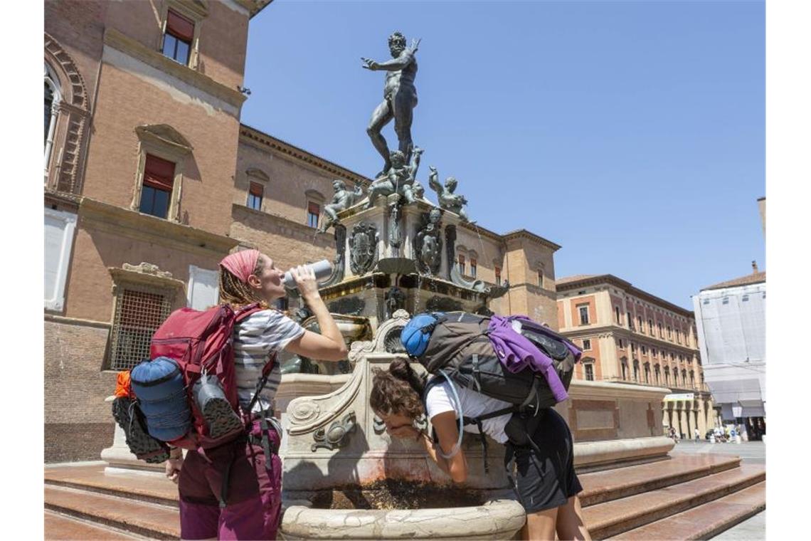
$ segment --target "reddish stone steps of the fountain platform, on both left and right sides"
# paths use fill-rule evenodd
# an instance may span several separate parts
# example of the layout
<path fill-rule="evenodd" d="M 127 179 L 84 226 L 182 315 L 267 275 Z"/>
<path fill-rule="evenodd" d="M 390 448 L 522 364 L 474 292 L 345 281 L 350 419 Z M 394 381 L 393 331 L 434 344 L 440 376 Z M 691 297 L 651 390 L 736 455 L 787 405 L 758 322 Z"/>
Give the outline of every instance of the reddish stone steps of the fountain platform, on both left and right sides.
<path fill-rule="evenodd" d="M 765 475 L 723 455 L 581 474 L 583 513 L 594 539 L 707 539 L 763 509 Z M 177 502 L 177 487 L 157 475 L 46 468 L 45 538 L 178 539 Z"/>

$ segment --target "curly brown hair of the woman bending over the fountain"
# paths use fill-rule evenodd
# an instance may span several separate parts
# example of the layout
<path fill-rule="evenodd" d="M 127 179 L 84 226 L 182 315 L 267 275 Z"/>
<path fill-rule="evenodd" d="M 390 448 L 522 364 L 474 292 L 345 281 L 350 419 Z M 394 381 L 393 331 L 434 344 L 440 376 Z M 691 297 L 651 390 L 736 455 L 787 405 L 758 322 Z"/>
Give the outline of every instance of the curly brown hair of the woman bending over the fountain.
<path fill-rule="evenodd" d="M 395 359 L 388 371 L 373 368 L 369 405 L 376 413 L 400 414 L 417 419 L 425 413 L 423 391 L 425 380 L 405 359 Z"/>

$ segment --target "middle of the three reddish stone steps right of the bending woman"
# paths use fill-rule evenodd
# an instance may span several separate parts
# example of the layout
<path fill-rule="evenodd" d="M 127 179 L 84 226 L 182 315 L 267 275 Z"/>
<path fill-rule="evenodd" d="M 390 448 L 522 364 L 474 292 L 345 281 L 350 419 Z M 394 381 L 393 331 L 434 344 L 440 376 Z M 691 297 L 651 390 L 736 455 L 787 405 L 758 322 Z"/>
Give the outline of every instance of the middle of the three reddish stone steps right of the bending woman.
<path fill-rule="evenodd" d="M 676 513 L 706 505 L 766 480 L 762 465 L 743 465 L 685 483 L 606 501 L 583 509 L 591 537 L 607 539 Z M 721 517 L 726 520 L 726 517 Z M 686 539 L 678 534 L 679 539 Z"/>

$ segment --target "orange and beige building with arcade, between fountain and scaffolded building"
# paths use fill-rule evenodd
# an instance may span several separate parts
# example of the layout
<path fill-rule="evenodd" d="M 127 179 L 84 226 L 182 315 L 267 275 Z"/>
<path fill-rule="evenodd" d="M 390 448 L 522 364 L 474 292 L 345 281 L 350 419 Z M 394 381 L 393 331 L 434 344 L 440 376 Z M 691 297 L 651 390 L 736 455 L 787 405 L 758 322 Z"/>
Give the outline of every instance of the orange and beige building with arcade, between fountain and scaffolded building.
<path fill-rule="evenodd" d="M 560 333 L 583 349 L 576 379 L 667 387 L 666 431 L 704 438 L 716 426 L 692 311 L 611 274 L 560 278 L 556 296 Z"/>

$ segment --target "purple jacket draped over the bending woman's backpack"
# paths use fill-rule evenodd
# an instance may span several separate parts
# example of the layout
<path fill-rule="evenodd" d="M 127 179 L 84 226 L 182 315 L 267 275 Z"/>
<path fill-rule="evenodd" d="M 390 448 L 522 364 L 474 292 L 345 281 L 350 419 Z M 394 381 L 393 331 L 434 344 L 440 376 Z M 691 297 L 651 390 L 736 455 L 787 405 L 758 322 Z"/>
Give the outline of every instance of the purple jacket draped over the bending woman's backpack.
<path fill-rule="evenodd" d="M 552 359 L 539 350 L 528 338 L 521 333 L 516 333 L 513 329 L 513 320 L 526 321 L 534 327 L 538 326 L 526 316 L 491 316 L 488 336 L 501 363 L 513 374 L 530 367 L 530 370 L 538 372 L 546 378 L 549 389 L 557 401 L 566 400 L 569 394 L 566 393 L 564 384 L 560 381 Z M 581 351 L 570 346 L 569 343 L 566 343 L 566 346 L 574 358 L 579 360 Z"/>

